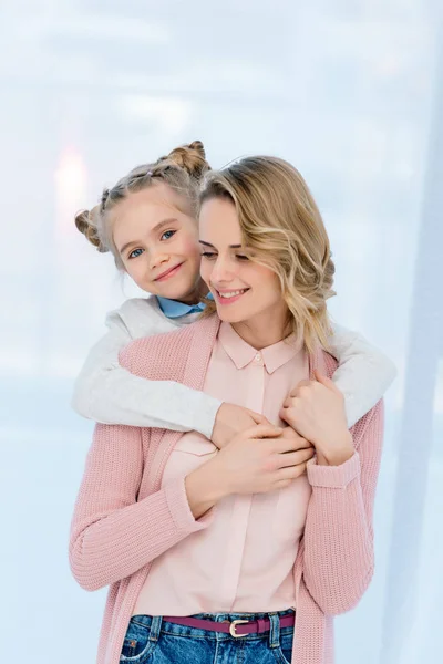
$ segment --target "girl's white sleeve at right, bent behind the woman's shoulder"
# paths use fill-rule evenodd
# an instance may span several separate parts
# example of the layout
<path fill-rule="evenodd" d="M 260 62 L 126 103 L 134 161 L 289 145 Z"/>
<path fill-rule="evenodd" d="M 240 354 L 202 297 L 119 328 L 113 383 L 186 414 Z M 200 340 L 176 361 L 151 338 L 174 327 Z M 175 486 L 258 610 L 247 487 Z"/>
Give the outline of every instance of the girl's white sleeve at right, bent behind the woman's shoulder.
<path fill-rule="evenodd" d="M 369 413 L 396 376 L 393 362 L 358 332 L 333 323 L 331 353 L 339 366 L 332 376 L 344 395 L 348 426 Z"/>

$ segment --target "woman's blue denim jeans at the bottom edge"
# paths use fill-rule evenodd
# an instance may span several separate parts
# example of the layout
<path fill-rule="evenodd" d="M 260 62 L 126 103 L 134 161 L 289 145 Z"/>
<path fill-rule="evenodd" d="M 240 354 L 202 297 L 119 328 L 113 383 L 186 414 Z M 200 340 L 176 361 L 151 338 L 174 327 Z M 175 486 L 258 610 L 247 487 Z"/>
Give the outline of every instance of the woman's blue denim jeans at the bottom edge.
<path fill-rule="evenodd" d="M 197 613 L 193 618 L 256 620 L 269 618 L 270 630 L 235 639 L 230 634 L 176 625 L 162 616 L 133 615 L 120 661 L 127 664 L 290 664 L 293 626 L 280 629 L 274 613 Z"/>

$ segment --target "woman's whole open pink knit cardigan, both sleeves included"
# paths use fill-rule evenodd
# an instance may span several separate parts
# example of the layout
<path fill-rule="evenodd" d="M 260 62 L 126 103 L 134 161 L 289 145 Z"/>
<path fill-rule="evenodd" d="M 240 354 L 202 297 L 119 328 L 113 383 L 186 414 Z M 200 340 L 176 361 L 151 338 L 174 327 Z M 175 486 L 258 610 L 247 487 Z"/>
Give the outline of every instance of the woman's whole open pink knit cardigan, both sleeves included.
<path fill-rule="evenodd" d="M 121 354 L 132 373 L 202 390 L 216 340 L 216 315 L 167 334 L 133 342 Z M 315 369 L 331 376 L 337 361 L 318 351 Z M 308 468 L 312 487 L 293 567 L 293 664 L 333 663 L 333 615 L 359 602 L 373 573 L 372 510 L 380 466 L 383 404 L 351 429 L 356 454 L 341 466 Z M 70 564 L 85 590 L 110 585 L 97 664 L 117 664 L 138 593 L 152 561 L 189 533 L 195 521 L 184 479 L 161 488 L 169 453 L 183 434 L 97 425 L 75 504 Z"/>

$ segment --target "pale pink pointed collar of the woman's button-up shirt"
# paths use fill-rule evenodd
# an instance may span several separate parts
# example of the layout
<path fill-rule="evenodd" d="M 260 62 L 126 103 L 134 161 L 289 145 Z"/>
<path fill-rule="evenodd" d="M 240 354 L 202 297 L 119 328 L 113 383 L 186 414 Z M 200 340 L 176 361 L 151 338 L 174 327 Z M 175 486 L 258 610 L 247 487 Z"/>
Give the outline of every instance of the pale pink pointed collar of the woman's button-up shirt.
<path fill-rule="evenodd" d="M 229 323 L 225 322 L 220 325 L 218 339 L 237 369 L 244 369 L 251 362 L 262 361 L 269 374 L 292 360 L 302 349 L 302 341 L 297 342 L 296 335 L 290 334 L 282 341 L 257 351 L 241 339 Z"/>

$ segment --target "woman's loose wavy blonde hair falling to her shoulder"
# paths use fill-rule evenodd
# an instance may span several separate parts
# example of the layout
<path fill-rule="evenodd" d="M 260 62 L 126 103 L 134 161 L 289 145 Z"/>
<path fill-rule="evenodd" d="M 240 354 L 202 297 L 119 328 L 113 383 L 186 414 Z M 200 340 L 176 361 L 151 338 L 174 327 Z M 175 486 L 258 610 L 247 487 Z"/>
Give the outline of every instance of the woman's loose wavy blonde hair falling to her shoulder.
<path fill-rule="evenodd" d="M 329 350 L 327 300 L 336 294 L 334 264 L 323 220 L 300 173 L 276 157 L 245 157 L 207 175 L 200 206 L 212 198 L 233 201 L 251 260 L 277 274 L 289 310 L 288 332 L 302 339 L 308 352 L 319 344 Z M 207 317 L 216 305 L 205 301 Z"/>

